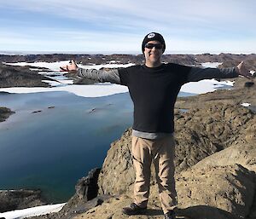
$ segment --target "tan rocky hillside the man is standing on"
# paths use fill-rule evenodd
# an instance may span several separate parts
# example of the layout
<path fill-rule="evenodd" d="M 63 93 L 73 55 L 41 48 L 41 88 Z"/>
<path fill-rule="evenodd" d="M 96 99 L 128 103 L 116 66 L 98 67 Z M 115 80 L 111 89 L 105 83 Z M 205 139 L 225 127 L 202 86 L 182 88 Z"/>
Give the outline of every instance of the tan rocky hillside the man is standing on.
<path fill-rule="evenodd" d="M 253 101 L 255 85 L 242 87 L 236 88 L 243 90 L 239 91 L 240 98 L 252 95 Z M 223 101 L 231 100 L 228 96 L 236 93 L 236 89 L 221 91 L 218 100 L 213 92 L 193 97 L 193 101 L 189 101 L 189 97 L 177 102 L 175 178 L 178 218 L 256 218 L 256 115 L 238 104 L 240 101 Z M 179 101 L 189 102 L 187 112 L 178 109 Z M 163 217 L 154 169 L 152 173 L 146 215 L 129 218 Z M 90 178 L 95 179 L 94 182 Z M 121 209 L 132 201 L 134 178 L 129 129 L 111 144 L 99 175 L 90 173 L 89 178 L 79 181 L 77 193 L 60 212 L 37 218 L 128 218 Z M 90 183 L 95 182 L 97 196 L 88 199 Z"/>

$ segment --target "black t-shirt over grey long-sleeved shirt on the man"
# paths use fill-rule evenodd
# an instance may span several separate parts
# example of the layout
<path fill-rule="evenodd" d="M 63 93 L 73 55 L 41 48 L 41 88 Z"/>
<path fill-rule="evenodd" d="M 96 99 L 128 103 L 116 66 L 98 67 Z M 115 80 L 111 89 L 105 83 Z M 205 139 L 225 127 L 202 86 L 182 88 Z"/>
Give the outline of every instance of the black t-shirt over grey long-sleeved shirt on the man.
<path fill-rule="evenodd" d="M 238 73 L 235 67 L 198 68 L 168 63 L 111 72 L 79 69 L 79 76 L 127 86 L 134 103 L 133 135 L 155 139 L 174 132 L 174 104 L 183 84 L 208 78 L 235 78 Z"/>

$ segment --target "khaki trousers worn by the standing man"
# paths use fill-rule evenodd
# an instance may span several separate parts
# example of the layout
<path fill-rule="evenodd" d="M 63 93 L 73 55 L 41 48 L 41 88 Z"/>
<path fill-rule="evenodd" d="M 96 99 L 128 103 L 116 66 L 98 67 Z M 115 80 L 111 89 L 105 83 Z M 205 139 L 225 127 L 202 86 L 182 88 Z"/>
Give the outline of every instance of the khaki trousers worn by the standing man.
<path fill-rule="evenodd" d="M 136 172 L 134 184 L 135 204 L 146 207 L 150 186 L 150 166 L 154 162 L 156 182 L 160 192 L 160 203 L 166 214 L 177 205 L 174 181 L 175 143 L 173 136 L 149 140 L 132 136 L 131 154 Z"/>

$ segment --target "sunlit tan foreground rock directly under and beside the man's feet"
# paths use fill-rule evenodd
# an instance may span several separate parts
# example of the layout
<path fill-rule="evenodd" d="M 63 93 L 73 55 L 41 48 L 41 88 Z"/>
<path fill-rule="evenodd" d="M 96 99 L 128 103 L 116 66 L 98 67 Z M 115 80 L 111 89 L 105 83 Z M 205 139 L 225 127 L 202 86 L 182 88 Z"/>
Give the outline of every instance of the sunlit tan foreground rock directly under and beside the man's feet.
<path fill-rule="evenodd" d="M 177 175 L 177 215 L 179 218 L 238 219 L 245 218 L 253 205 L 254 174 L 241 165 L 186 170 Z M 121 209 L 131 203 L 130 195 L 108 199 L 75 219 L 125 219 Z M 163 218 L 158 189 L 151 187 L 148 212 L 132 218 Z"/>

